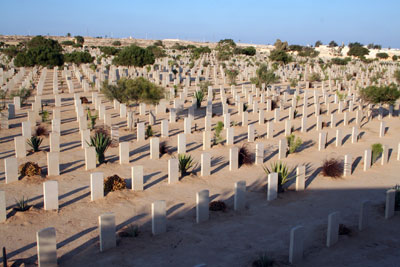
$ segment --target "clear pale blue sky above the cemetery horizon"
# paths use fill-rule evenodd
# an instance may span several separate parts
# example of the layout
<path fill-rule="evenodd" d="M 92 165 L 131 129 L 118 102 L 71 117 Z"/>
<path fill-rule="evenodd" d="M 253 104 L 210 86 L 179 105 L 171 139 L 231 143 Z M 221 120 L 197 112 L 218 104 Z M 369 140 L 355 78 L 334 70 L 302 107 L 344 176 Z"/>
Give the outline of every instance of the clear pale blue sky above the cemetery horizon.
<path fill-rule="evenodd" d="M 0 0 L 0 34 L 400 48 L 400 0 Z"/>

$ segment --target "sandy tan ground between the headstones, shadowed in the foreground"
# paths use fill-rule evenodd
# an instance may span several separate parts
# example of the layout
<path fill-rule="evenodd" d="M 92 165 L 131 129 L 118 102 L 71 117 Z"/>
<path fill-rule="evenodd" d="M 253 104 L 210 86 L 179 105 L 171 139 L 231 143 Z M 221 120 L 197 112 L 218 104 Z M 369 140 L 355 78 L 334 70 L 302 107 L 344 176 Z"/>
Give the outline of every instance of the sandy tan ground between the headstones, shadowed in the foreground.
<path fill-rule="evenodd" d="M 52 70 L 48 70 L 42 99 L 51 99 Z M 59 73 L 61 79 L 61 73 Z M 74 85 L 81 95 L 82 88 L 74 78 Z M 250 88 L 250 85 L 248 85 Z M 237 87 L 240 88 L 240 87 Z M 67 92 L 64 83 L 64 91 Z M 193 89 L 193 88 L 192 88 Z M 240 89 L 238 89 L 240 90 Z M 227 90 L 227 92 L 230 90 Z M 312 103 L 309 94 L 309 103 Z M 214 103 L 218 103 L 218 99 Z M 333 97 L 330 99 L 333 101 Z M 302 101 L 298 111 L 301 113 Z M 188 107 L 191 102 L 187 102 Z M 50 104 L 50 106 L 53 104 Z M 289 102 L 288 102 L 289 105 Z M 336 109 L 336 105 L 334 105 Z M 92 107 L 93 108 L 93 107 Z M 17 118 L 10 121 L 11 129 L 0 132 L 0 157 L 14 155 L 15 136 L 21 134 L 21 122 L 26 120 L 26 110 L 17 112 Z M 51 110 L 51 107 L 48 107 Z M 234 106 L 231 121 L 240 122 L 241 116 Z M 357 144 L 351 144 L 351 127 L 354 125 L 355 112 L 351 112 L 351 123 L 344 127 L 343 114 L 337 115 L 339 128 L 343 130 L 344 145 L 335 147 L 335 130 L 324 128 L 328 132 L 328 147 L 319 152 L 318 133 L 315 130 L 314 107 L 308 108 L 306 134 L 299 131 L 300 118 L 294 126 L 299 136 L 308 144 L 301 152 L 289 155 L 284 161 L 290 167 L 301 164 L 307 166 L 307 189 L 295 192 L 294 185 L 280 194 L 278 199 L 267 202 L 266 175 L 261 166 L 243 166 L 237 171 L 229 171 L 229 149 L 216 146 L 208 152 L 212 155 L 212 175 L 200 177 L 199 166 L 194 174 L 184 177 L 178 184 L 167 183 L 167 161 L 169 155 L 159 160 L 149 159 L 149 141 L 137 142 L 135 133 L 126 130 L 126 122 L 119 118 L 117 111 L 108 103 L 108 112 L 113 114 L 113 123 L 121 126 L 120 140 L 130 141 L 130 164 L 120 165 L 118 148 L 106 153 L 106 164 L 95 171 L 104 172 L 104 176 L 118 174 L 128 180 L 130 187 L 131 166 L 143 165 L 145 190 L 133 192 L 126 189 L 112 192 L 104 199 L 90 201 L 90 171 L 85 171 L 84 150 L 81 148 L 78 123 L 73 110 L 73 96 L 63 94 L 62 136 L 60 170 L 58 177 L 33 177 L 5 184 L 4 161 L 0 161 L 0 190 L 6 192 L 8 219 L 0 224 L 0 244 L 7 248 L 10 262 L 16 266 L 22 263 L 33 265 L 36 257 L 36 232 L 45 227 L 55 227 L 57 232 L 57 256 L 61 266 L 193 266 L 206 263 L 208 266 L 249 266 L 258 255 L 267 252 L 277 266 L 288 265 L 290 229 L 303 225 L 306 230 L 305 258 L 298 266 L 398 266 L 400 260 L 400 223 L 399 212 L 390 220 L 384 219 L 385 191 L 400 184 L 398 173 L 400 165 L 396 160 L 400 130 L 398 117 L 385 121 L 388 131 L 384 138 L 378 137 L 379 121 L 375 118 L 361 130 L 362 138 Z M 251 110 L 251 107 L 250 107 Z M 213 110 L 213 125 L 222 119 L 222 108 L 216 105 Z M 187 136 L 187 152 L 198 163 L 202 153 L 202 129 L 204 129 L 205 108 L 196 110 L 197 132 Z M 257 142 L 264 143 L 265 164 L 277 160 L 278 140 L 284 138 L 284 121 L 288 109 L 281 111 L 282 120 L 275 124 L 275 137 L 261 137 Z M 137 116 L 147 121 L 148 116 Z M 160 120 L 168 114 L 157 115 L 157 125 L 153 127 L 160 135 Z M 168 140 L 176 154 L 177 134 L 183 132 L 183 114 L 177 123 L 169 126 Z M 329 121 L 324 115 L 324 121 Z M 273 112 L 266 112 L 266 119 L 272 119 Z M 249 123 L 255 123 L 257 133 L 266 134 L 266 125 L 258 125 L 258 115 L 249 113 Z M 102 121 L 98 122 L 101 125 Z M 194 126 L 194 125 L 193 125 Z M 47 124 L 51 129 L 51 125 Z M 312 143 L 313 142 L 313 143 Z M 388 145 L 391 156 L 387 165 L 380 162 L 364 172 L 362 156 L 371 144 L 380 142 Z M 235 145 L 247 143 L 247 127 L 235 127 Z M 255 144 L 248 147 L 254 151 Z M 46 151 L 49 150 L 48 138 L 45 138 L 44 151 L 29 154 L 26 161 L 38 162 L 46 168 Z M 320 174 L 322 160 L 328 157 L 343 158 L 351 154 L 354 174 L 350 177 L 332 179 Z M 198 174 L 198 175 L 197 175 Z M 59 211 L 43 210 L 42 183 L 57 180 L 59 183 Z M 247 208 L 243 212 L 233 211 L 234 183 L 245 180 L 247 183 Z M 202 224 L 195 222 L 196 192 L 208 189 L 213 200 L 223 200 L 228 205 L 226 212 L 211 212 L 210 220 Z M 15 213 L 15 199 L 29 197 L 33 208 L 24 213 Z M 167 233 L 151 235 L 151 203 L 165 200 L 167 204 Z M 363 232 L 357 230 L 358 213 L 361 202 L 372 202 L 371 227 Z M 100 253 L 98 244 L 98 216 L 105 212 L 114 212 L 117 229 L 129 224 L 139 226 L 140 234 L 136 238 L 119 238 L 115 249 Z M 328 214 L 340 211 L 341 223 L 352 230 L 350 236 L 340 236 L 338 244 L 326 248 L 326 228 Z"/>

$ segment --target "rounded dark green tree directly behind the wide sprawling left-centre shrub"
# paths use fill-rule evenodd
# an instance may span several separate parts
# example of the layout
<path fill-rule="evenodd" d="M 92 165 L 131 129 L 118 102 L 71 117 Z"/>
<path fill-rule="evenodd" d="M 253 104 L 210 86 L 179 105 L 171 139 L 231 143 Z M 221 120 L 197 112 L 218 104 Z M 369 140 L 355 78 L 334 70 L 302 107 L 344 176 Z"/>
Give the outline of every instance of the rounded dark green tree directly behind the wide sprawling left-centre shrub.
<path fill-rule="evenodd" d="M 148 50 L 136 45 L 124 47 L 113 59 L 113 64 L 120 66 L 143 67 L 154 64 L 154 55 Z"/>

